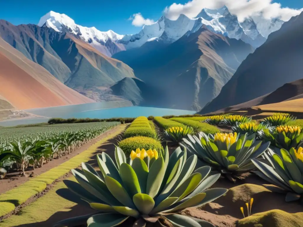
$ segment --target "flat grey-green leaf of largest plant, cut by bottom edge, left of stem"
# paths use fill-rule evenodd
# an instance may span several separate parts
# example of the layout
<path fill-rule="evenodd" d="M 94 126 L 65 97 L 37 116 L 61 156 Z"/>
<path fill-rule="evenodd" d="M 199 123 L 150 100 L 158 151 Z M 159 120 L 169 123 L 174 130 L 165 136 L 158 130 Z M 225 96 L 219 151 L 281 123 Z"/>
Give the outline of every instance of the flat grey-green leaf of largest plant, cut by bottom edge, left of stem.
<path fill-rule="evenodd" d="M 96 214 L 87 220 L 87 227 L 113 227 L 125 222 L 129 217 L 122 214 Z"/>

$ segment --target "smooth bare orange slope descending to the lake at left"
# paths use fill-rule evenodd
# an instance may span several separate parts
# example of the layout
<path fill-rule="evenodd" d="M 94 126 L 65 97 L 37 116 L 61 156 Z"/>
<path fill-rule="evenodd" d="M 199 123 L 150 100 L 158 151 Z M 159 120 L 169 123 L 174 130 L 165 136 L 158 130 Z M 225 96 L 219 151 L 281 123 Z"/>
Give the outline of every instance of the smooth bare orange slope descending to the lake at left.
<path fill-rule="evenodd" d="M 0 68 L 0 97 L 4 97 L 15 108 L 31 109 L 93 102 L 62 84 L 2 38 Z"/>

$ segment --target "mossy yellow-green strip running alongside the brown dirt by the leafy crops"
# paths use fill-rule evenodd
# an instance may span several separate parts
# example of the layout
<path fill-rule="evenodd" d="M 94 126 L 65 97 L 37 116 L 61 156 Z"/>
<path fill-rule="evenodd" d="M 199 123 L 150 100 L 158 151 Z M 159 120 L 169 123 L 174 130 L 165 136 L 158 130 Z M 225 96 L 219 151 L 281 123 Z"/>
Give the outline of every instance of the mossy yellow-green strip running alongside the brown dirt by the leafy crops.
<path fill-rule="evenodd" d="M 96 151 L 98 146 L 120 133 L 125 128 L 125 125 L 119 125 L 115 133 L 110 134 L 108 137 L 99 140 L 97 143 L 90 146 L 87 150 L 72 157 L 65 163 L 40 174 L 39 176 L 30 179 L 26 183 L 18 186 L 15 189 L 9 190 L 8 192 L 0 195 L 0 217 L 12 212 L 15 209 L 15 205 L 20 205 L 34 196 L 38 192 L 42 192 L 48 184 L 51 184 L 55 179 L 68 173 L 71 169 L 76 168 L 82 162 L 90 160 L 91 155 Z M 2 226 L 2 225 L 1 225 Z"/>

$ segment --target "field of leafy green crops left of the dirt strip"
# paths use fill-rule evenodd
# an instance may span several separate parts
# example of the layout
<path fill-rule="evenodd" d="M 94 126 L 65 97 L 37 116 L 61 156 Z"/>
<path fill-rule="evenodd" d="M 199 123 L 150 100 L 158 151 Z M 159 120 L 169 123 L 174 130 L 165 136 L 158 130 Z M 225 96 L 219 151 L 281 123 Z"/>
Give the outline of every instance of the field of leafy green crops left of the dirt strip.
<path fill-rule="evenodd" d="M 60 124 L 0 129 L 0 178 L 8 170 L 25 170 L 73 152 L 120 122 Z"/>

